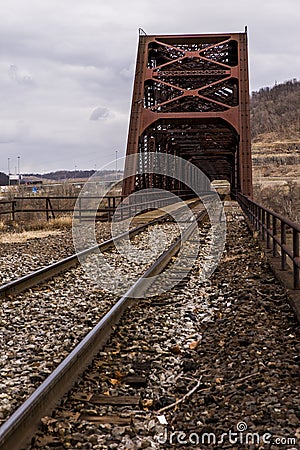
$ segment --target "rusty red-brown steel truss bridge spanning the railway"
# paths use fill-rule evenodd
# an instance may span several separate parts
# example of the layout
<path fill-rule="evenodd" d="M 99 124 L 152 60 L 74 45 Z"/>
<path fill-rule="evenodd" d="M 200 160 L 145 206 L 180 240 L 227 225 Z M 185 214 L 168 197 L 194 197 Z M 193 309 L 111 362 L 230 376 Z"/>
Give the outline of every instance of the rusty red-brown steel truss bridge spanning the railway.
<path fill-rule="evenodd" d="M 141 173 L 157 152 L 190 161 L 210 181 L 227 180 L 233 194 L 252 196 L 246 30 L 139 36 L 126 151 L 134 156 L 126 158 L 124 195 L 185 189 Z"/>

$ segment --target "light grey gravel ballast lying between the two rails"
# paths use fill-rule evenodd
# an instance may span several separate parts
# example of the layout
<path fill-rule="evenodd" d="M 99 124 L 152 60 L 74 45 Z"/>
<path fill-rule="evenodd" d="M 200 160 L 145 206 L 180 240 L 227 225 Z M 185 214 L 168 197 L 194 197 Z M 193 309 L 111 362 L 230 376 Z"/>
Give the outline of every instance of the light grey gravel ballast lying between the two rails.
<path fill-rule="evenodd" d="M 157 237 L 178 234 L 176 224 L 153 225 L 135 236 L 132 245 L 147 249 Z M 166 242 L 164 242 L 166 244 Z M 163 247 L 163 243 L 162 243 Z M 122 267 L 132 280 L 143 273 L 151 260 L 134 267 L 117 252 L 107 259 Z M 152 261 L 154 261 L 154 257 Z M 0 317 L 0 423 L 20 405 L 61 360 L 115 303 L 117 297 L 91 283 L 81 266 L 55 277 L 48 283 L 1 302 Z"/>

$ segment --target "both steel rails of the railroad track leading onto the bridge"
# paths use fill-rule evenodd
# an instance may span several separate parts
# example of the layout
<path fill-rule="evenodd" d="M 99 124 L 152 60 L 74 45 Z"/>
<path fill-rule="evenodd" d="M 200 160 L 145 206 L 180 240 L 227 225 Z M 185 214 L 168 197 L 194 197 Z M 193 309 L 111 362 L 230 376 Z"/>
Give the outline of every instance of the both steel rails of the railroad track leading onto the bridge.
<path fill-rule="evenodd" d="M 203 219 L 204 213 L 200 213 L 199 220 Z M 131 237 L 144 231 L 151 225 L 165 220 L 166 217 L 154 219 L 147 224 L 140 225 L 130 230 Z M 14 450 L 20 448 L 22 442 L 26 441 L 28 436 L 32 435 L 39 419 L 45 415 L 49 407 L 57 403 L 58 398 L 70 388 L 78 374 L 90 363 L 93 356 L 98 352 L 101 345 L 107 341 L 110 331 L 119 320 L 128 305 L 132 303 L 134 297 L 143 297 L 150 285 L 153 283 L 151 277 L 157 275 L 169 264 L 170 260 L 180 249 L 182 242 L 187 241 L 197 228 L 196 222 L 193 222 L 184 233 L 184 236 L 178 238 L 171 247 L 159 257 L 150 268 L 131 286 L 131 288 L 122 296 L 121 299 L 110 309 L 109 312 L 100 320 L 100 322 L 90 331 L 90 333 L 77 345 L 77 347 L 65 358 L 65 360 L 49 375 L 42 385 L 25 401 L 25 403 L 8 419 L 0 430 L 0 448 Z M 125 233 L 126 234 L 126 233 Z M 122 240 L 124 236 L 114 238 L 114 242 Z M 107 250 L 113 246 L 113 242 L 106 241 L 99 244 L 97 248 Z M 85 250 L 83 253 L 93 252 L 94 248 Z M 49 280 L 60 274 L 62 271 L 69 270 L 78 264 L 78 259 L 74 255 L 65 258 L 47 268 L 38 270 L 28 276 L 21 277 L 7 283 L 0 289 L 1 296 L 11 296 L 23 292 L 42 281 Z M 184 278 L 189 272 L 189 268 L 177 269 L 176 276 Z M 181 273 L 180 273 L 181 272 Z M 45 405 L 47 405 L 45 407 Z"/>

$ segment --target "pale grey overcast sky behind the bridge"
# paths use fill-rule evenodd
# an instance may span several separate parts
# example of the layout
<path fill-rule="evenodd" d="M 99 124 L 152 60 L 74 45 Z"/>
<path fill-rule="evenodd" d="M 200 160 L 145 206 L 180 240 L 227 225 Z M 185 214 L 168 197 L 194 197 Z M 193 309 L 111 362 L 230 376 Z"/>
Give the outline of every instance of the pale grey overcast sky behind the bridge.
<path fill-rule="evenodd" d="M 100 169 L 125 153 L 138 28 L 241 32 L 250 89 L 300 78 L 299 0 L 10 0 L 0 15 L 0 171 Z"/>

